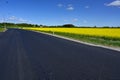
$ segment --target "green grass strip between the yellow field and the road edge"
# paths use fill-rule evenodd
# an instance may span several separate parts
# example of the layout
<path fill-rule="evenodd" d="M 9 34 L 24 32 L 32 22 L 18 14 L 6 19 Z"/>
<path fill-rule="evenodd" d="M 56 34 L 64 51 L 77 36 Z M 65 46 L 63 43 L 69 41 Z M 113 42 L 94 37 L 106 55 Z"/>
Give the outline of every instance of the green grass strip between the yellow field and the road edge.
<path fill-rule="evenodd" d="M 51 31 L 41 31 L 46 33 L 51 33 Z M 100 44 L 104 46 L 110 47 L 120 47 L 120 39 L 119 38 L 107 38 L 107 37 L 97 37 L 97 36 L 89 36 L 89 35 L 79 35 L 79 34 L 72 34 L 72 33 L 63 33 L 63 32 L 54 32 L 56 35 L 93 43 L 93 44 Z"/>

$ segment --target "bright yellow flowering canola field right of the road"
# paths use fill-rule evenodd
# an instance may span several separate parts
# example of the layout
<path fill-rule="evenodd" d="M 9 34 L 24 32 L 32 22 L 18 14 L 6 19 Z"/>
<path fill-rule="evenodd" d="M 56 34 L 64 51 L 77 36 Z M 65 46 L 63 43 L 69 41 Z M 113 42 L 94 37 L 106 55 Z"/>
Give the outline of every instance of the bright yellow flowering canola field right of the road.
<path fill-rule="evenodd" d="M 120 39 L 120 28 L 24 28 L 24 29 L 64 32 L 64 33 Z"/>

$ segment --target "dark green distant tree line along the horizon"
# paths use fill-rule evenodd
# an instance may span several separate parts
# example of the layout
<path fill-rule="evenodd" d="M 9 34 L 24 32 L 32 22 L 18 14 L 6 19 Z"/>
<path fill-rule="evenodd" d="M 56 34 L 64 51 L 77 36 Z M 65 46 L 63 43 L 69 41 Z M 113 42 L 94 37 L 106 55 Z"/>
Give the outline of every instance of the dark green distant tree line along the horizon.
<path fill-rule="evenodd" d="M 97 26 L 75 26 L 73 24 L 64 24 L 64 25 L 57 25 L 57 26 L 46 26 L 46 25 L 38 25 L 38 24 L 28 24 L 28 23 L 0 23 L 0 27 L 7 27 L 7 28 L 14 28 L 14 27 L 47 27 L 47 28 L 120 28 L 120 26 L 117 27 L 110 27 L 110 26 L 103 26 L 103 27 L 97 27 Z"/>

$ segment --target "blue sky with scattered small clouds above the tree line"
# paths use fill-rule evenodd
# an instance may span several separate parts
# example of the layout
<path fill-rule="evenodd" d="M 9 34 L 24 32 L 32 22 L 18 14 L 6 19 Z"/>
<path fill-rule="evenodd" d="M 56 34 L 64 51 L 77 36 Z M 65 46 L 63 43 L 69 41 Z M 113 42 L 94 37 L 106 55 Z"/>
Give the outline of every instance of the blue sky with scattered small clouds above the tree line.
<path fill-rule="evenodd" d="M 120 26 L 120 0 L 0 0 L 0 22 Z"/>

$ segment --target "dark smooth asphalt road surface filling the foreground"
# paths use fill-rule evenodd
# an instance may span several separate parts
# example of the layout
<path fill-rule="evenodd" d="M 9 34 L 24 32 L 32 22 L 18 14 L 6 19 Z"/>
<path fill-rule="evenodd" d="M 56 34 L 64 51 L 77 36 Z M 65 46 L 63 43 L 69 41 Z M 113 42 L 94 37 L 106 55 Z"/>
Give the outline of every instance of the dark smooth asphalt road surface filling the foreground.
<path fill-rule="evenodd" d="M 120 52 L 9 29 L 0 33 L 0 80 L 120 80 Z"/>

